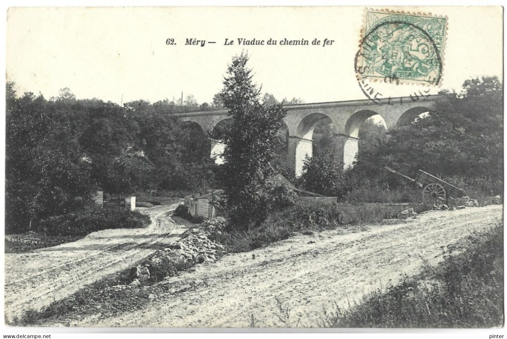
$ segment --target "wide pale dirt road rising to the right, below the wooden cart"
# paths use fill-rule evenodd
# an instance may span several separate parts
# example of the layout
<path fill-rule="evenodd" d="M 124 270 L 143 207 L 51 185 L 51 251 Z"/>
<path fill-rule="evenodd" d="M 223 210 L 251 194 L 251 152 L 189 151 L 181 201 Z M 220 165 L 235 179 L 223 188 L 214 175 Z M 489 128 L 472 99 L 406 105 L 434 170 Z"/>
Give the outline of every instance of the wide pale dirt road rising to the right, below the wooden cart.
<path fill-rule="evenodd" d="M 227 255 L 170 278 L 173 293 L 115 318 L 72 326 L 318 326 L 323 309 L 414 274 L 441 247 L 500 222 L 502 206 L 430 212 L 368 231 L 296 236 L 253 252 Z M 314 243 L 312 243 L 314 242 Z M 252 257 L 255 254 L 255 258 Z M 176 288 L 177 286 L 177 288 Z"/>

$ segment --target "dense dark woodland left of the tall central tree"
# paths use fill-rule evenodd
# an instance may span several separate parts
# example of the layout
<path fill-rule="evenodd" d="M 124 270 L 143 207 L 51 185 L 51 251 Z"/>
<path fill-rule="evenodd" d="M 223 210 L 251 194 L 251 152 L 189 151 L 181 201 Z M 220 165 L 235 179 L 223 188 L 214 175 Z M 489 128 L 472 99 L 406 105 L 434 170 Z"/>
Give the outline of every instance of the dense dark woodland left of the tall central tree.
<path fill-rule="evenodd" d="M 209 137 L 171 116 L 201 109 L 194 101 L 121 107 L 78 100 L 68 89 L 47 100 L 18 95 L 8 83 L 6 225 L 27 229 L 31 221 L 79 209 L 97 188 L 122 194 L 213 186 Z"/>

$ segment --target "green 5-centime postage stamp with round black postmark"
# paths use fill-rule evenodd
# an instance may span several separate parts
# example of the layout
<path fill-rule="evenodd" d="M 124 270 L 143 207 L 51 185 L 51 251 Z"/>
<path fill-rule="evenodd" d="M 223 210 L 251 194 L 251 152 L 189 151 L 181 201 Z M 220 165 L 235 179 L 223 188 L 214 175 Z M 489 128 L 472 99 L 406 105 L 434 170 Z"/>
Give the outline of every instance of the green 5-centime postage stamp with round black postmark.
<path fill-rule="evenodd" d="M 356 55 L 360 79 L 439 85 L 447 17 L 368 9 Z"/>

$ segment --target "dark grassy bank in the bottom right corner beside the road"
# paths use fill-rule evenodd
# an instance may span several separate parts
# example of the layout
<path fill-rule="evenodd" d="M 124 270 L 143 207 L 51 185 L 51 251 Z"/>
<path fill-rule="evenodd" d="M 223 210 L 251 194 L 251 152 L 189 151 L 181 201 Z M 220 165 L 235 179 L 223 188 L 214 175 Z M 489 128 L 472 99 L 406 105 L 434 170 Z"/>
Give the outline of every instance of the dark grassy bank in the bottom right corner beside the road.
<path fill-rule="evenodd" d="M 327 327 L 491 328 L 503 324 L 503 225 L 444 250 L 444 262 L 377 291 Z"/>

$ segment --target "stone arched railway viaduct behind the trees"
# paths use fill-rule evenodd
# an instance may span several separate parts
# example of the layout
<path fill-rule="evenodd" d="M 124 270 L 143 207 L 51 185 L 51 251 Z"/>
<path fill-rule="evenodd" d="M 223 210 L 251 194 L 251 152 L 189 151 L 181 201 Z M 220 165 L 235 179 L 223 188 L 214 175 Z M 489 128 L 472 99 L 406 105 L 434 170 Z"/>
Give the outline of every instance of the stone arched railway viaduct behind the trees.
<path fill-rule="evenodd" d="M 287 163 L 297 175 L 302 173 L 305 156 L 312 155 L 313 131 L 322 119 L 331 122 L 336 152 L 345 166 L 350 166 L 358 151 L 358 133 L 361 123 L 373 115 L 380 115 L 386 131 L 411 123 L 421 113 L 428 112 L 439 95 L 408 96 L 378 100 L 334 101 L 331 103 L 286 105 L 287 115 L 283 119 L 288 130 Z M 231 120 L 226 109 L 177 113 L 180 121 L 189 121 L 206 132 Z M 211 155 L 220 155 L 225 145 L 211 141 Z"/>

